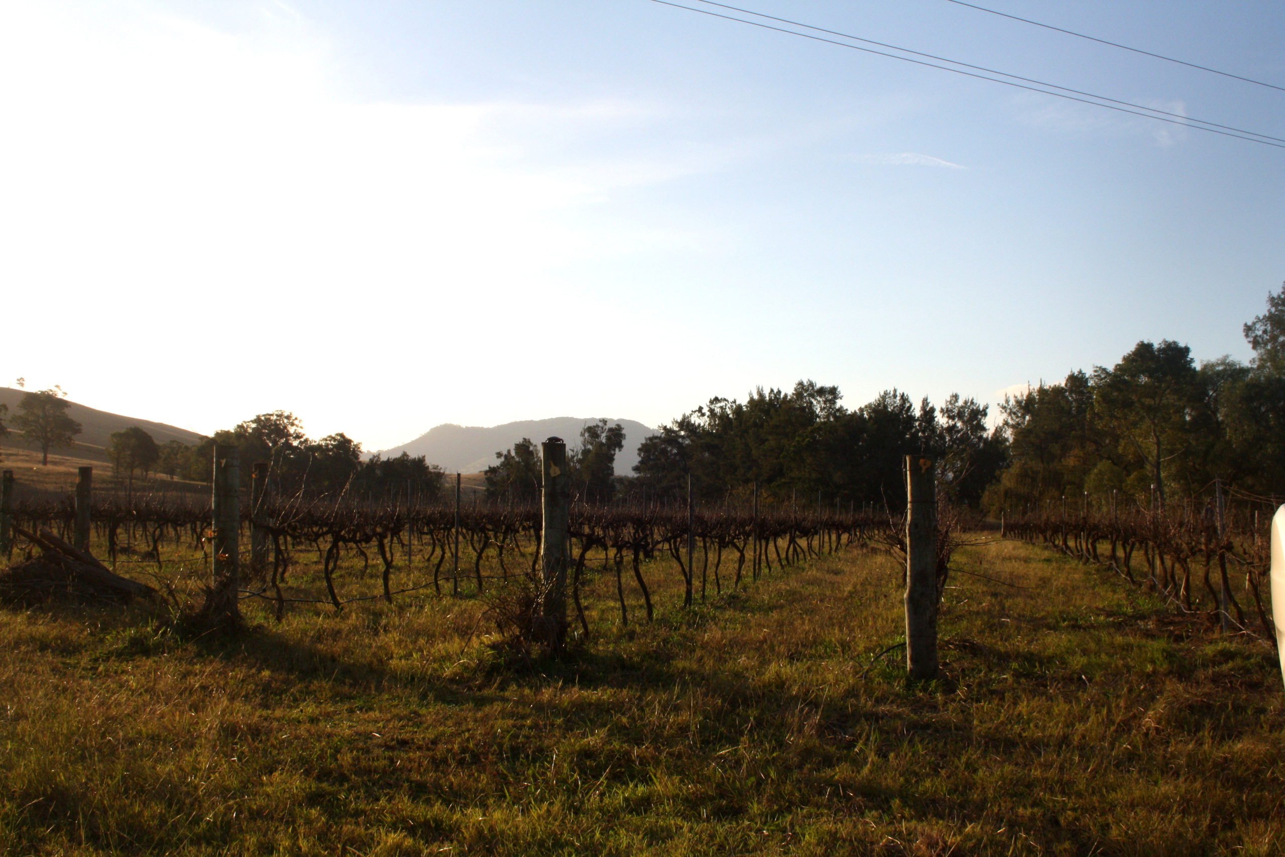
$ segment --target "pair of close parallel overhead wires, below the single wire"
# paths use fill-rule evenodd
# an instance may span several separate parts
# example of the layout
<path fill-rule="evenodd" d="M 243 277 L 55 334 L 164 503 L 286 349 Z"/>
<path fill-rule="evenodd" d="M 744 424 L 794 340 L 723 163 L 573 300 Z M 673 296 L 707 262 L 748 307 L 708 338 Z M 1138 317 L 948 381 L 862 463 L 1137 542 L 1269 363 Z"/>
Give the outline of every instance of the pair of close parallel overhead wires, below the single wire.
<path fill-rule="evenodd" d="M 925 63 L 923 60 L 911 59 L 910 57 L 901 57 L 898 54 L 887 54 L 887 53 L 884 53 L 882 50 L 871 50 L 869 48 L 861 48 L 858 45 L 849 45 L 847 42 L 834 41 L 831 39 L 821 39 L 821 37 L 812 36 L 812 35 L 803 33 L 803 32 L 797 32 L 797 31 L 793 31 L 793 30 L 785 30 L 783 27 L 772 27 L 770 24 L 759 23 L 757 21 L 745 21 L 744 18 L 736 18 L 736 17 L 732 17 L 732 15 L 723 15 L 723 14 L 720 14 L 717 12 L 711 12 L 708 9 L 700 9 L 700 8 L 696 8 L 696 6 L 685 6 L 685 5 L 681 5 L 681 4 L 677 4 L 677 3 L 672 3 L 671 0 L 651 0 L 651 1 L 653 3 L 658 3 L 660 5 L 666 5 L 666 6 L 673 6 L 676 9 L 686 9 L 687 12 L 698 12 L 700 14 L 712 15 L 714 18 L 723 18 L 725 21 L 735 21 L 735 22 L 739 22 L 739 23 L 743 23 L 743 24 L 750 24 L 752 27 L 762 27 L 765 30 L 774 30 L 776 32 L 783 32 L 783 33 L 788 33 L 788 35 L 792 35 L 792 36 L 801 36 L 803 39 L 811 39 L 813 41 L 821 41 L 821 42 L 826 42 L 826 44 L 831 44 L 831 45 L 838 45 L 840 48 L 851 48 L 852 50 L 861 50 L 861 51 L 870 53 L 870 54 L 878 54 L 879 57 L 889 57 L 892 59 L 900 59 L 902 62 L 915 63 L 916 66 L 928 66 L 929 68 L 939 68 L 942 71 L 953 72 L 956 75 L 965 75 L 968 77 L 977 77 L 979 80 L 987 80 L 987 81 L 991 81 L 993 84 L 1004 84 L 1006 86 L 1015 86 L 1018 89 L 1031 90 L 1031 91 L 1034 91 L 1034 93 L 1043 93 L 1045 95 L 1054 95 L 1056 98 L 1064 98 L 1064 99 L 1069 99 L 1072 102 L 1081 102 L 1081 103 L 1085 103 L 1085 104 L 1094 104 L 1095 107 L 1105 107 L 1108 109 L 1121 110 L 1122 113 L 1133 113 L 1135 116 L 1142 116 L 1145 118 L 1156 119 L 1159 122 L 1169 122 L 1172 125 L 1181 125 L 1183 127 L 1198 128 L 1200 131 L 1209 131 L 1210 134 L 1222 134 L 1223 136 L 1232 136 L 1232 137 L 1237 137 L 1237 139 L 1241 139 L 1241 140 L 1249 140 L 1250 143 L 1262 143 L 1263 145 L 1273 145 L 1276 148 L 1285 148 L 1285 137 L 1276 137 L 1276 136 L 1272 136 L 1270 134 L 1259 134 L 1258 131 L 1249 131 L 1246 128 L 1240 128 L 1240 127 L 1235 127 L 1235 126 L 1231 126 L 1231 125 L 1221 125 L 1218 122 L 1212 122 L 1209 119 L 1200 119 L 1200 118 L 1186 116 L 1186 114 L 1182 114 L 1182 113 L 1172 113 L 1169 110 L 1162 110 L 1159 108 L 1146 107 L 1144 104 L 1136 104 L 1133 102 L 1123 102 L 1123 100 L 1114 99 L 1114 98 L 1110 98 L 1110 96 L 1106 96 L 1106 95 L 1097 95 L 1096 93 L 1087 93 L 1087 91 L 1083 91 L 1083 90 L 1072 89 L 1069 86 L 1059 86 L 1058 84 L 1050 84 L 1047 81 L 1041 81 L 1041 80 L 1032 78 L 1032 77 L 1023 77 L 1020 75 L 1010 75 L 1009 72 L 1001 72 L 998 69 L 988 68 L 986 66 L 974 66 L 971 63 L 960 62 L 957 59 L 950 59 L 948 57 L 939 57 L 937 54 L 926 54 L 924 51 L 912 50 L 910 48 L 901 48 L 900 45 L 892 45 L 892 44 L 888 44 L 888 42 L 875 41 L 873 39 L 864 39 L 861 36 L 853 36 L 851 33 L 839 32 L 837 30 L 826 30 L 825 27 L 815 27 L 812 24 L 806 24 L 806 23 L 799 22 L 799 21 L 792 21 L 789 18 L 779 18 L 776 15 L 770 15 L 770 14 L 766 14 L 766 13 L 762 13 L 762 12 L 754 12 L 753 9 L 744 9 L 744 8 L 740 8 L 740 6 L 729 5 L 726 3 L 717 3 L 716 0 L 695 0 L 695 1 L 705 4 L 705 5 L 711 5 L 711 6 L 718 6 L 721 9 L 729 9 L 731 12 L 739 12 L 739 13 L 747 14 L 747 15 L 754 15 L 756 18 L 765 18 L 767 21 L 776 21 L 779 23 L 790 24 L 793 27 L 802 27 L 804 30 L 811 30 L 813 32 L 824 32 L 824 33 L 830 35 L 830 36 L 839 36 L 840 39 L 851 39 L 853 41 L 865 42 L 867 45 L 876 45 L 879 48 L 887 48 L 889 50 L 897 50 L 897 51 L 901 51 L 903 54 L 912 54 L 915 57 L 924 57 L 926 59 L 934 59 L 934 60 L 938 60 L 938 62 L 942 62 L 942 63 L 950 63 L 951 66 L 960 66 L 962 68 L 971 68 L 971 69 L 974 69 L 977 72 L 986 72 L 986 75 L 1000 75 L 1001 77 L 1009 77 L 1011 80 L 997 80 L 995 77 L 987 77 L 986 75 L 975 75 L 975 73 L 971 73 L 971 72 L 966 72 L 966 71 L 962 71 L 961 68 L 950 68 L 950 67 L 946 67 L 946 66 L 937 66 L 935 63 Z M 1013 81 L 1023 81 L 1024 84 L 1032 84 L 1033 86 L 1024 86 L 1023 84 L 1015 84 Z M 1038 89 L 1041 86 L 1046 86 L 1049 89 Z M 1049 90 L 1059 90 L 1059 91 L 1049 91 Z M 1064 93 L 1072 93 L 1072 95 L 1064 95 Z M 1077 95 L 1085 96 L 1085 98 L 1074 98 Z M 1097 100 L 1086 100 L 1086 99 L 1097 99 Z M 1103 104 L 1103 102 L 1109 102 L 1109 104 Z M 1119 105 L 1119 107 L 1114 107 L 1114 105 Z M 1156 116 L 1156 114 L 1159 114 L 1159 116 Z M 1164 117 L 1172 117 L 1172 118 L 1164 118 Z M 1209 126 L 1209 127 L 1205 127 L 1205 126 Z M 1222 130 L 1217 130 L 1217 128 L 1222 128 Z M 1255 139 L 1255 137 L 1258 137 L 1258 139 Z"/>

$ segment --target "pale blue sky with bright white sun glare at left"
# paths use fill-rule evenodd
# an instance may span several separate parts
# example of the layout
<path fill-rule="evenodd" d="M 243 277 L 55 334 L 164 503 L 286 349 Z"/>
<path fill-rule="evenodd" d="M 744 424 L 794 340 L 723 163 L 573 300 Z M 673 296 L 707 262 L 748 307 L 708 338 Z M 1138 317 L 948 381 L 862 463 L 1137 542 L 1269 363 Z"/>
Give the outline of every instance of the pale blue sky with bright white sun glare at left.
<path fill-rule="evenodd" d="M 982 5 L 1285 86 L 1279 3 Z M 1285 136 L 1282 91 L 946 0 L 748 8 Z M 1248 358 L 1285 280 L 1285 150 L 648 0 L 10 3 L 0 110 L 0 373 L 203 432 L 993 402 Z"/>

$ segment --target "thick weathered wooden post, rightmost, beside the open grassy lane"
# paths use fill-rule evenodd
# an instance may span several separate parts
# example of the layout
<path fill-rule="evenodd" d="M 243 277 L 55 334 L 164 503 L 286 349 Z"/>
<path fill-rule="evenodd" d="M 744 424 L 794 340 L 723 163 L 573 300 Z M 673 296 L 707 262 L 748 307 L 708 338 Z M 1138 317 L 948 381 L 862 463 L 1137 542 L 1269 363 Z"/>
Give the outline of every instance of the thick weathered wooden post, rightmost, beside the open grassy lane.
<path fill-rule="evenodd" d="M 937 677 L 937 486 L 920 455 L 906 456 L 906 669 Z"/>

